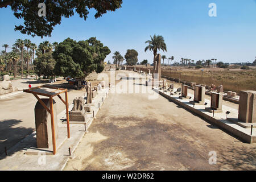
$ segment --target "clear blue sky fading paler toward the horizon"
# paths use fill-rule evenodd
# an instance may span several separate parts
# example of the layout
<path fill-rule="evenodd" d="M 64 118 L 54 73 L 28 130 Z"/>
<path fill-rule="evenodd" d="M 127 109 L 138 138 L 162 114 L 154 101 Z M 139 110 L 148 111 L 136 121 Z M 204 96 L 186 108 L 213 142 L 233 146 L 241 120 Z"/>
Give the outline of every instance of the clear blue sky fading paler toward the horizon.
<path fill-rule="evenodd" d="M 210 17 L 210 3 L 217 5 L 217 17 Z M 16 39 L 30 39 L 39 44 L 44 40 L 77 41 L 94 36 L 113 52 L 124 56 L 127 49 L 138 51 L 139 62 L 152 63 L 152 52 L 144 52 L 150 35 L 162 35 L 167 44 L 166 57 L 191 60 L 218 59 L 228 63 L 252 62 L 256 56 L 256 0 L 123 0 L 121 9 L 95 19 L 91 10 L 88 19 L 63 18 L 52 36 L 41 39 L 14 31 L 16 19 L 10 7 L 0 9 L 0 45 L 13 45 Z M 4 48 L 1 47 L 0 50 Z M 11 49 L 7 49 L 7 52 Z M 167 60 L 166 60 L 167 61 Z"/>

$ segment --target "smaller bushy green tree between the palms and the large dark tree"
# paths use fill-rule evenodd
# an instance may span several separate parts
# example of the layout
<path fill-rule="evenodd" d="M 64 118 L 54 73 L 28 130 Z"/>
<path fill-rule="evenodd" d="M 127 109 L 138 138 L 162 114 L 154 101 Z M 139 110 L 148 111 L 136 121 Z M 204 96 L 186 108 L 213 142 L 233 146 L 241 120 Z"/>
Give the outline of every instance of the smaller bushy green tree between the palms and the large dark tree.
<path fill-rule="evenodd" d="M 34 60 L 35 72 L 38 76 L 54 76 L 56 61 L 53 59 L 52 52 L 44 53 Z"/>

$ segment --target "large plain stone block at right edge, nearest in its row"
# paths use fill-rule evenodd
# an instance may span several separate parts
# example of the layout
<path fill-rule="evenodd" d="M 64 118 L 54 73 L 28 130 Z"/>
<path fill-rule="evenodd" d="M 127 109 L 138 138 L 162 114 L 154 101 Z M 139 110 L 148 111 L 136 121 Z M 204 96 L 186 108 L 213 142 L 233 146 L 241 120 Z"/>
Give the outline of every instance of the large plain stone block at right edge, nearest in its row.
<path fill-rule="evenodd" d="M 246 123 L 256 123 L 256 91 L 240 92 L 238 120 Z"/>

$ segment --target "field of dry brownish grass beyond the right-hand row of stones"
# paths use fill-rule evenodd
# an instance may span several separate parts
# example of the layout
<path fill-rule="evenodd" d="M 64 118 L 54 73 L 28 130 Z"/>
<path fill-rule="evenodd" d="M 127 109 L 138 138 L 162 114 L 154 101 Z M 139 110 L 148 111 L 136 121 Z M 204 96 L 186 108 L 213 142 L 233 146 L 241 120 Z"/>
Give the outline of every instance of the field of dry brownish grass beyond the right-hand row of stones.
<path fill-rule="evenodd" d="M 256 69 L 162 69 L 162 76 L 181 78 L 188 82 L 216 86 L 223 85 L 224 90 L 239 93 L 241 90 L 256 90 Z"/>

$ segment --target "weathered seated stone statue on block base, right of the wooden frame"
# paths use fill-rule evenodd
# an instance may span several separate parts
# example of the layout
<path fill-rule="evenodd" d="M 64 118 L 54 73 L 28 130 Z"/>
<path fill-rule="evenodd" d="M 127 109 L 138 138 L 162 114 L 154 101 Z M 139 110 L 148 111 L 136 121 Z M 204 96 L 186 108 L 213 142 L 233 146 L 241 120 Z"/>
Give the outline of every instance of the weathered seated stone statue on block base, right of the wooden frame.
<path fill-rule="evenodd" d="M 85 122 L 86 113 L 85 113 L 85 100 L 82 97 L 75 98 L 73 100 L 73 108 L 69 113 L 69 121 L 76 122 Z"/>

